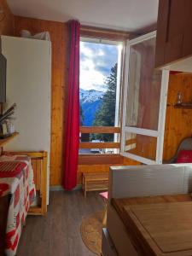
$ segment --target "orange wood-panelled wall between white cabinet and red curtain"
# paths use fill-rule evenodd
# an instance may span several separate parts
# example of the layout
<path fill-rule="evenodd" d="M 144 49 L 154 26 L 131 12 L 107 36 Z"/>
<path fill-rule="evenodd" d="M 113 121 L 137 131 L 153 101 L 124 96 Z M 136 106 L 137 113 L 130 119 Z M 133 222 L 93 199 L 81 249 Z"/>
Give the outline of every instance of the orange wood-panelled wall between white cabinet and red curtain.
<path fill-rule="evenodd" d="M 15 17 L 15 36 L 22 29 L 48 31 L 52 42 L 50 185 L 61 185 L 63 173 L 63 128 L 67 92 L 68 29 L 66 23 Z"/>

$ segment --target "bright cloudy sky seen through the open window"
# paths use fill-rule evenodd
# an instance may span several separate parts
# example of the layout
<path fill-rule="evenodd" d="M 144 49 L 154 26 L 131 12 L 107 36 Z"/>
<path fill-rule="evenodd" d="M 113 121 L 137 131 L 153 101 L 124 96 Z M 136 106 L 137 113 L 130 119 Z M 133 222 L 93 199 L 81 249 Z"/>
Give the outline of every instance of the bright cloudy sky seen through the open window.
<path fill-rule="evenodd" d="M 117 61 L 117 45 L 80 42 L 80 88 L 105 91 L 104 81 Z"/>

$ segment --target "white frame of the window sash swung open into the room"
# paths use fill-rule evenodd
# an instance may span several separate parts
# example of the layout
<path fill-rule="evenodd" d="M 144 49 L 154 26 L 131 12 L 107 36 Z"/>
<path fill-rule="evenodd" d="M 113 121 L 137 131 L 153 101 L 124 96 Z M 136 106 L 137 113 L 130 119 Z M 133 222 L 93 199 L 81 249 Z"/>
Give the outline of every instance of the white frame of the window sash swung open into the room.
<path fill-rule="evenodd" d="M 129 93 L 128 91 L 129 90 L 129 59 L 130 59 L 131 45 L 139 44 L 145 40 L 148 40 L 150 38 L 155 38 L 155 37 L 156 37 L 156 32 L 150 32 L 139 38 L 128 40 L 127 47 L 126 47 L 126 58 L 125 58 L 125 86 L 124 86 L 124 104 L 123 104 L 123 113 L 122 113 L 123 120 L 122 120 L 122 136 L 121 136 L 121 153 L 120 154 L 132 160 L 137 160 L 139 162 L 142 162 L 143 164 L 146 164 L 146 165 L 162 164 L 169 71 L 162 70 L 158 130 L 154 131 L 154 130 L 148 130 L 148 129 L 137 128 L 132 126 L 126 126 L 125 119 L 126 119 L 126 107 L 127 107 L 127 101 L 128 101 L 127 96 Z M 131 154 L 131 153 L 125 152 L 124 149 L 125 149 L 125 133 L 126 132 L 140 134 L 143 136 L 156 137 L 157 145 L 156 145 L 155 160 L 150 160 L 148 158 L 139 156 L 137 154 Z"/>

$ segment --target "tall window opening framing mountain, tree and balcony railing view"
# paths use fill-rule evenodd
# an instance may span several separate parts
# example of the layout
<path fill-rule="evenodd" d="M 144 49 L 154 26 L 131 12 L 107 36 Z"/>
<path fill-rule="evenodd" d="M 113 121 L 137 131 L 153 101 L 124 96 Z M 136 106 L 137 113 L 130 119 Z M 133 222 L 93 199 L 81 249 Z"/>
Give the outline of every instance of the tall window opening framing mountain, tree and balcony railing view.
<path fill-rule="evenodd" d="M 81 38 L 80 154 L 119 151 L 122 49 L 122 42 Z"/>

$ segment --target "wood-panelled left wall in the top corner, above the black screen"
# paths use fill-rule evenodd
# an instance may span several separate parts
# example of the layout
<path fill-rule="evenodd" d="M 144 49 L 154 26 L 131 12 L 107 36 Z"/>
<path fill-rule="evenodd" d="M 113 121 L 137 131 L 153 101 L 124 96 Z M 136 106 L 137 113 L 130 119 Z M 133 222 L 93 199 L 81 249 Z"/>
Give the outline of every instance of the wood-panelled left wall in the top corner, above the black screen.
<path fill-rule="evenodd" d="M 15 18 L 6 0 L 0 0 L 0 10 L 3 10 L 3 14 L 0 14 L 0 35 L 13 36 Z"/>

